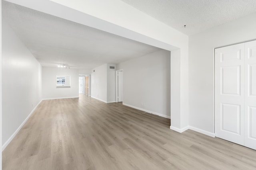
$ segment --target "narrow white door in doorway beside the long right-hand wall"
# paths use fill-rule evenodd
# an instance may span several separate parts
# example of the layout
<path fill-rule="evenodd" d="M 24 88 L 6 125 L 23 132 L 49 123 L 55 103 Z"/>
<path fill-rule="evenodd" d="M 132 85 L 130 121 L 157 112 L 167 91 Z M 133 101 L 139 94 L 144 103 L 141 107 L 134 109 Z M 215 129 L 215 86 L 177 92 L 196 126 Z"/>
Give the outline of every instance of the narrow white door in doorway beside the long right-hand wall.
<path fill-rule="evenodd" d="M 116 70 L 116 102 L 123 102 L 123 70 Z"/>

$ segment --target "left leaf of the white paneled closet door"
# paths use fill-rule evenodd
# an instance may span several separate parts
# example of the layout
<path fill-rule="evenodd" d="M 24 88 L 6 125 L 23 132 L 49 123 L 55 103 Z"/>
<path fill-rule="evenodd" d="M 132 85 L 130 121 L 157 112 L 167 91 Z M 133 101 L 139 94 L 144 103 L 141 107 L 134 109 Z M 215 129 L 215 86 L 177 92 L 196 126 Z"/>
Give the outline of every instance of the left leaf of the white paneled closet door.
<path fill-rule="evenodd" d="M 215 135 L 244 145 L 244 43 L 215 49 Z"/>

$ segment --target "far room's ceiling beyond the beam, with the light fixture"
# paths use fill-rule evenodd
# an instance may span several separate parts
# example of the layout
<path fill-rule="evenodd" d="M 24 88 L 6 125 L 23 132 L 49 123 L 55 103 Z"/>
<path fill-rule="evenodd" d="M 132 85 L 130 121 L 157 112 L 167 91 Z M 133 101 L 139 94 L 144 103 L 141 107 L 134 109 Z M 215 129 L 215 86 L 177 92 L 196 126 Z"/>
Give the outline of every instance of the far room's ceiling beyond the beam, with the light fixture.
<path fill-rule="evenodd" d="M 160 50 L 6 1 L 2 16 L 42 66 L 90 69 Z"/>

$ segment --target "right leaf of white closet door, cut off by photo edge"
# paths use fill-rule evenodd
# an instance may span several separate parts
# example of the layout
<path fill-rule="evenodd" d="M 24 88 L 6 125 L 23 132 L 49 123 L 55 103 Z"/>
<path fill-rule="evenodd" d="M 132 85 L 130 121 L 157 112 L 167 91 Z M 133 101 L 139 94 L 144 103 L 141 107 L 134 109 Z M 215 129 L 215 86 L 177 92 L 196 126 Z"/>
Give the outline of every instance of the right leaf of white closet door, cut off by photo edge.
<path fill-rule="evenodd" d="M 256 41 L 245 43 L 245 139 L 244 146 L 256 149 Z"/>

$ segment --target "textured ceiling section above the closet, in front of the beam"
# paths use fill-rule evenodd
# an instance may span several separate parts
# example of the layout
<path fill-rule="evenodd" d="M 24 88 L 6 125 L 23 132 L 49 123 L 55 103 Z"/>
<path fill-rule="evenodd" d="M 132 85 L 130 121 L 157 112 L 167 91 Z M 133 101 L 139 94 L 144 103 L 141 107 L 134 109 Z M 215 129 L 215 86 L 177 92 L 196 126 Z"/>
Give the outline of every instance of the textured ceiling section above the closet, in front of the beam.
<path fill-rule="evenodd" d="M 256 0 L 122 1 L 186 35 L 193 35 L 256 12 Z"/>

